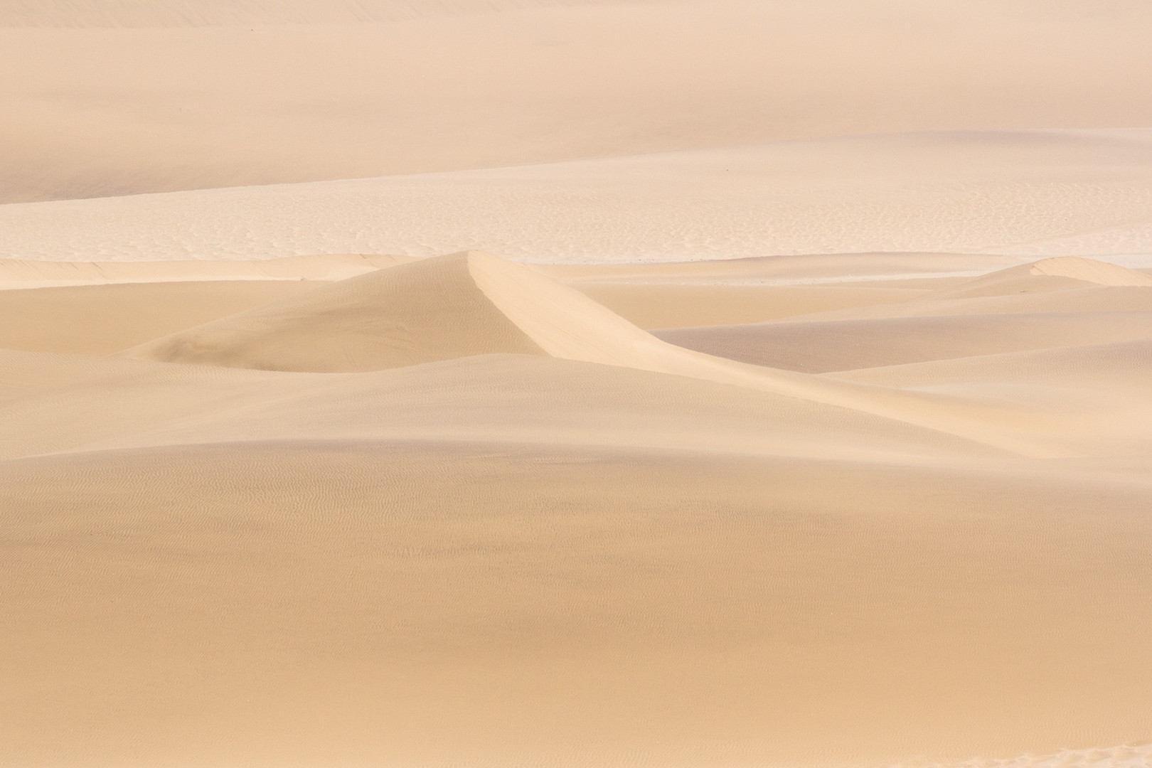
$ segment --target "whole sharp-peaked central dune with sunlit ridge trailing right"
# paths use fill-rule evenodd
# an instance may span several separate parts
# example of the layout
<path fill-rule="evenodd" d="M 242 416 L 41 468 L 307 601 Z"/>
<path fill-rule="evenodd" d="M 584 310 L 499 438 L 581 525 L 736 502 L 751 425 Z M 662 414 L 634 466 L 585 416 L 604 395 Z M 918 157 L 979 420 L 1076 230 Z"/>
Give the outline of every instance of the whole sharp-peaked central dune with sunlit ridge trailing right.
<path fill-rule="evenodd" d="M 675 347 L 532 267 L 482 251 L 353 277 L 123 353 L 165 363 L 323 373 L 493 352 L 690 377 L 895 419 L 1022 455 L 1068 455 L 1031 434 L 1024 413 Z"/>

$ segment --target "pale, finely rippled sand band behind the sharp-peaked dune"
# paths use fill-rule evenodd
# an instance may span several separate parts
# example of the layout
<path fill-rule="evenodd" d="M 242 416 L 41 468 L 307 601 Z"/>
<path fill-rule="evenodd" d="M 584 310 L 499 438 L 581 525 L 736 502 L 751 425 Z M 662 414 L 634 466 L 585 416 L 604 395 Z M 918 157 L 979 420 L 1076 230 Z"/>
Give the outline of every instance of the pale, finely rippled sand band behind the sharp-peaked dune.
<path fill-rule="evenodd" d="M 6 205 L 0 258 L 479 248 L 521 261 L 602 264 L 871 252 L 858 266 L 877 276 L 937 274 L 942 257 L 910 254 L 945 251 L 948 271 L 973 275 L 1043 256 L 1152 266 L 1150 211 L 1150 130 L 948 131 Z M 1105 230 L 1105 243 L 1061 241 Z M 806 261 L 751 266 L 763 280 L 850 277 L 847 257 L 831 268 Z"/>

